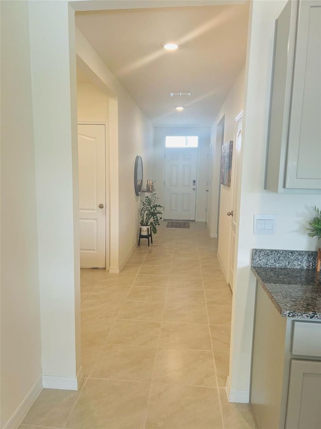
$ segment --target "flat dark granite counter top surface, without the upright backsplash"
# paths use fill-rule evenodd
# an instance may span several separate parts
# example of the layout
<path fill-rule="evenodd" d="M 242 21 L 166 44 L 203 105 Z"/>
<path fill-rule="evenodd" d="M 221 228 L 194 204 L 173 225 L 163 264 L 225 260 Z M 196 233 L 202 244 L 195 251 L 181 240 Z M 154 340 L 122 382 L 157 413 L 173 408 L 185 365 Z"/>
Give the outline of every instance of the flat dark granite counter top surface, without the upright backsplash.
<path fill-rule="evenodd" d="M 252 272 L 281 316 L 321 320 L 321 273 L 253 266 Z"/>

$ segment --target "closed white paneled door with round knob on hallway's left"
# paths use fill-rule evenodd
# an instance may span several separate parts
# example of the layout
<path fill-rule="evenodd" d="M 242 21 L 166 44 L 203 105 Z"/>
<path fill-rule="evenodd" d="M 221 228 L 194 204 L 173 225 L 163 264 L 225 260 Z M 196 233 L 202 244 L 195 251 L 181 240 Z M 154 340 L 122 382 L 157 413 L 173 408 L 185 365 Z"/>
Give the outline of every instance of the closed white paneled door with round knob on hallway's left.
<path fill-rule="evenodd" d="M 80 266 L 106 267 L 105 126 L 78 125 Z"/>

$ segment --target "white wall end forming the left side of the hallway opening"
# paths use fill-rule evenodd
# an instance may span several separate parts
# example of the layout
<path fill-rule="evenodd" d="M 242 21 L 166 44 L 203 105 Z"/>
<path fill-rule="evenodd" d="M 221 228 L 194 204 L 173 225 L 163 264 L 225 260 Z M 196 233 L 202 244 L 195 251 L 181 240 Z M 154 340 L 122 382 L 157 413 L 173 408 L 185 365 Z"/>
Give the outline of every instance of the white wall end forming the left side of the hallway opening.
<path fill-rule="evenodd" d="M 29 22 L 43 381 L 45 387 L 77 389 L 78 147 L 75 30 L 69 8 L 67 1 L 30 2 Z"/>

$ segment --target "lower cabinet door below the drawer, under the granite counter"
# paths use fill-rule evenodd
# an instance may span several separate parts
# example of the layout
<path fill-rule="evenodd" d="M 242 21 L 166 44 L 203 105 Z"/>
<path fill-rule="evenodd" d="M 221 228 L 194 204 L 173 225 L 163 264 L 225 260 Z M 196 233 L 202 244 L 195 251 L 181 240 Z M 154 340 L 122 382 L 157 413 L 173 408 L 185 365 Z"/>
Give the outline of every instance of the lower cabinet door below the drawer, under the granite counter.
<path fill-rule="evenodd" d="M 285 429 L 320 429 L 321 362 L 291 361 Z"/>

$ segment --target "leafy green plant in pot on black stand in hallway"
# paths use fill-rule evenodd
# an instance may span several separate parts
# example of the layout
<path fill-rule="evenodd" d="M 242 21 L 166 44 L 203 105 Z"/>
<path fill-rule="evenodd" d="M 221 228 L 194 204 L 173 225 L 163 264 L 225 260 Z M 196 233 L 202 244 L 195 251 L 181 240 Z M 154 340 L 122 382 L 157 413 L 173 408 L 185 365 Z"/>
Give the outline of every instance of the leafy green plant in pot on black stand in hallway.
<path fill-rule="evenodd" d="M 158 204 L 158 198 L 156 193 L 151 192 L 145 196 L 145 200 L 141 201 L 141 208 L 138 213 L 140 215 L 141 235 L 147 235 L 147 226 L 151 227 L 154 234 L 157 232 L 156 225 L 159 225 L 159 221 L 162 219 L 163 206 Z"/>

